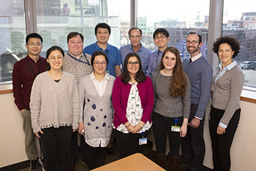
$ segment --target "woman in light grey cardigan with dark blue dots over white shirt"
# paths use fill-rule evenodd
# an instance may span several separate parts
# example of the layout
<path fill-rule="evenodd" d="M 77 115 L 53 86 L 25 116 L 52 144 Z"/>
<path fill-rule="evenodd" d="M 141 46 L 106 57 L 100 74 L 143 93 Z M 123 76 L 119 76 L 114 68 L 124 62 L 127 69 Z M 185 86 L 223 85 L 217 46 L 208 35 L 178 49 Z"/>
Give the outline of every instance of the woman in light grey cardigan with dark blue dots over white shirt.
<path fill-rule="evenodd" d="M 78 132 L 86 140 L 85 162 L 89 170 L 105 164 L 113 122 L 112 89 L 115 77 L 105 72 L 108 56 L 103 51 L 91 55 L 94 71 L 78 85 L 80 116 Z"/>

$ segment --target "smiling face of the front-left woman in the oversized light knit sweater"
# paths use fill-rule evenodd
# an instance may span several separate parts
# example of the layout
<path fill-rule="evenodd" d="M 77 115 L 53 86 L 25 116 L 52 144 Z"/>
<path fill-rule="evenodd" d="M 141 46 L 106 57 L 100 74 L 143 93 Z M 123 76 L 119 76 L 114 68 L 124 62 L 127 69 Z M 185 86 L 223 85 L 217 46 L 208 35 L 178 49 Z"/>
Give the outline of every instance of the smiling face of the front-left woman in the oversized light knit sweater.
<path fill-rule="evenodd" d="M 50 70 L 61 70 L 64 57 L 59 50 L 53 50 L 46 60 L 50 64 Z"/>

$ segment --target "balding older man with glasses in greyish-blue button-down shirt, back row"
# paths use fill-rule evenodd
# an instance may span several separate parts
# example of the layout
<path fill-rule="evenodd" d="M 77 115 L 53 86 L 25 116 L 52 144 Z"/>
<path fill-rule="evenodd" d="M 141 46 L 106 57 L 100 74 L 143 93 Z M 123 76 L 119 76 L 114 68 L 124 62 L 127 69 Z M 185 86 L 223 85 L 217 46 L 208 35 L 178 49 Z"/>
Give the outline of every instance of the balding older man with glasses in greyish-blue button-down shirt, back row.
<path fill-rule="evenodd" d="M 146 74 L 151 51 L 148 48 L 143 47 L 143 45 L 140 43 L 140 40 L 143 38 L 142 30 L 136 27 L 130 28 L 128 35 L 131 44 L 127 44 L 124 47 L 120 47 L 119 49 L 122 66 L 124 65 L 124 58 L 127 56 L 127 54 L 130 52 L 135 52 L 140 56 L 143 72 Z"/>

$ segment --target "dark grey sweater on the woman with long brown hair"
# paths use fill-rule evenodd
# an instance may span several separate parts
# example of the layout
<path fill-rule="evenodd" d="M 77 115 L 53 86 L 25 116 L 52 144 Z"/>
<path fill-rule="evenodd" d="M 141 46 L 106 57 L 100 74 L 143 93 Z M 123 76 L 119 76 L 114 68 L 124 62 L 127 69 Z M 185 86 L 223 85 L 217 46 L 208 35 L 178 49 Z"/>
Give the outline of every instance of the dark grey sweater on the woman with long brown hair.
<path fill-rule="evenodd" d="M 186 73 L 185 73 L 186 75 Z M 176 118 L 183 116 L 189 119 L 191 84 L 187 78 L 186 95 L 182 98 L 173 98 L 169 95 L 170 79 L 172 76 L 164 76 L 157 71 L 151 77 L 154 87 L 154 112 L 165 117 Z"/>

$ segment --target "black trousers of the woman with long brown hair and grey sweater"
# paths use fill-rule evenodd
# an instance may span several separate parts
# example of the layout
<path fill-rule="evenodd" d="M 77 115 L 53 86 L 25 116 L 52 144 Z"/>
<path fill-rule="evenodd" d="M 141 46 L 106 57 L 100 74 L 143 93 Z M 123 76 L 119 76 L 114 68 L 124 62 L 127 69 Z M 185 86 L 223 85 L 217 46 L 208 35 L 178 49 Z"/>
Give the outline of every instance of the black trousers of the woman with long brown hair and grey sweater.
<path fill-rule="evenodd" d="M 179 146 L 181 143 L 180 132 L 171 131 L 171 126 L 175 126 L 174 119 L 178 119 L 177 126 L 181 127 L 183 117 L 168 118 L 160 114 L 153 114 L 153 132 L 157 146 L 157 154 L 165 154 L 166 149 L 166 137 L 168 134 L 170 154 L 173 156 L 179 156 Z"/>

